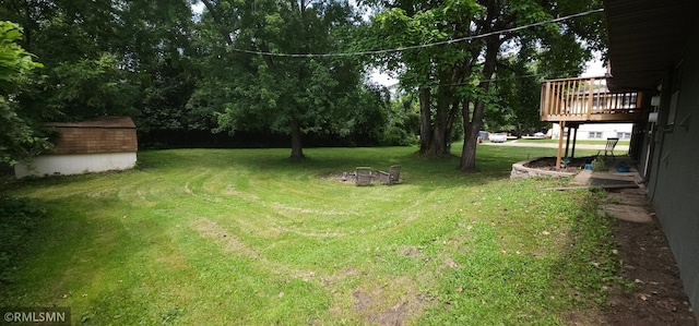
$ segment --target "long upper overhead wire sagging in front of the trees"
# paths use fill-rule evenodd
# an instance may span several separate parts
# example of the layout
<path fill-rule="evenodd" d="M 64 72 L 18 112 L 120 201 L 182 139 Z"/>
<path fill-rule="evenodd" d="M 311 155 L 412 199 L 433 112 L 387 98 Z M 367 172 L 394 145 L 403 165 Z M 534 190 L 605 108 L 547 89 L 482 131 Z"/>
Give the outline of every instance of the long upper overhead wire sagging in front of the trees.
<path fill-rule="evenodd" d="M 340 53 L 277 53 L 277 52 L 269 52 L 269 51 L 265 52 L 265 51 L 244 50 L 244 49 L 238 49 L 238 48 L 232 48 L 232 50 L 237 51 L 237 52 L 242 52 L 242 53 L 250 53 L 250 55 L 261 55 L 261 56 L 270 56 L 270 57 L 287 57 L 287 58 L 329 58 L 329 57 L 353 57 L 353 56 L 382 55 L 382 53 L 401 52 L 401 51 L 412 50 L 412 49 L 422 49 L 422 48 L 429 48 L 429 47 L 435 47 L 435 46 L 441 46 L 441 45 L 449 45 L 449 44 L 454 44 L 454 43 L 467 41 L 467 40 L 484 38 L 484 37 L 488 37 L 488 36 L 493 36 L 493 35 L 500 35 L 500 34 L 522 31 L 522 29 L 526 29 L 526 28 L 531 28 L 531 27 L 542 26 L 542 25 L 546 25 L 546 24 L 558 23 L 558 22 L 570 20 L 570 19 L 581 17 L 581 16 L 585 16 L 585 15 L 589 15 L 589 14 L 594 14 L 594 13 L 599 13 L 599 12 L 603 12 L 603 11 L 604 11 L 604 9 L 602 9 L 602 8 L 601 9 L 593 9 L 593 10 L 589 10 L 589 11 L 585 11 L 585 12 L 574 13 L 574 14 L 557 17 L 557 19 L 554 19 L 554 20 L 532 23 L 532 24 L 528 24 L 528 25 L 523 25 L 523 26 L 518 26 L 518 27 L 512 27 L 512 28 L 507 28 L 507 29 L 501 29 L 501 31 L 494 31 L 494 32 L 484 33 L 484 34 L 479 34 L 479 35 L 472 35 L 472 36 L 460 37 L 460 38 L 454 38 L 454 39 L 449 39 L 449 40 L 440 40 L 440 41 L 435 41 L 435 43 L 429 43 L 429 44 L 424 44 L 424 45 L 399 47 L 399 48 L 393 48 L 393 49 L 355 51 L 355 52 L 340 52 Z"/>

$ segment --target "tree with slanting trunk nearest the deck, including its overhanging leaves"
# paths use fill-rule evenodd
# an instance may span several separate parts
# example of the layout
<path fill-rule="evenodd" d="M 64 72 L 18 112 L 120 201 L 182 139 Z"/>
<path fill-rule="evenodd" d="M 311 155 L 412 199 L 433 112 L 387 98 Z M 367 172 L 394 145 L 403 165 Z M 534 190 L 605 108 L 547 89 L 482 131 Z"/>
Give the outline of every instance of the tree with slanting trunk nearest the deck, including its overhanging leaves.
<path fill-rule="evenodd" d="M 561 71 L 580 73 L 582 64 L 591 55 L 591 49 L 603 46 L 600 35 L 602 31 L 602 17 L 600 14 L 583 17 L 589 24 L 580 24 L 576 20 L 564 21 L 560 25 L 546 24 L 532 26 L 528 29 L 514 31 L 514 27 L 552 20 L 554 16 L 584 12 L 600 8 L 596 0 L 590 1 L 548 1 L 523 0 L 517 2 L 488 0 L 483 1 L 486 10 L 474 20 L 474 26 L 478 34 L 490 35 L 479 38 L 482 45 L 483 70 L 481 73 L 479 94 L 487 95 L 490 90 L 493 76 L 496 74 L 500 51 L 503 45 L 510 43 L 519 46 L 526 52 L 532 47 L 540 49 L 540 56 L 548 59 L 547 64 L 559 68 Z M 582 21 L 582 20 L 581 20 Z M 602 31 L 601 31 L 602 29 Z M 510 31 L 510 32 L 499 32 Z M 496 33 L 497 34 L 491 34 Z M 583 38 L 585 37 L 585 38 Z M 585 46 L 581 39 L 588 40 Z M 562 56 L 553 53 L 565 52 Z M 464 117 L 464 145 L 459 169 L 469 171 L 475 169 L 475 154 L 478 132 L 483 125 L 486 96 L 478 96 L 474 100 L 473 112 L 463 106 Z M 471 114 L 469 114 L 471 113 Z M 469 121 L 467 117 L 471 117 Z"/>

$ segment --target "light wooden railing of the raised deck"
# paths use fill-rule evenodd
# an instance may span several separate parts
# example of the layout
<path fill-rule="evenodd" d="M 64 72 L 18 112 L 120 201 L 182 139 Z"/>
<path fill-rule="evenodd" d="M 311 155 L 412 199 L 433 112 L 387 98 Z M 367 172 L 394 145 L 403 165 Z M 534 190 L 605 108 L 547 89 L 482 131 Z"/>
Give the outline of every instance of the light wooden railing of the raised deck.
<path fill-rule="evenodd" d="M 545 81 L 542 121 L 638 121 L 643 119 L 642 93 L 611 93 L 605 77 Z"/>

